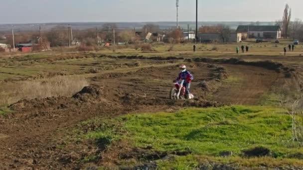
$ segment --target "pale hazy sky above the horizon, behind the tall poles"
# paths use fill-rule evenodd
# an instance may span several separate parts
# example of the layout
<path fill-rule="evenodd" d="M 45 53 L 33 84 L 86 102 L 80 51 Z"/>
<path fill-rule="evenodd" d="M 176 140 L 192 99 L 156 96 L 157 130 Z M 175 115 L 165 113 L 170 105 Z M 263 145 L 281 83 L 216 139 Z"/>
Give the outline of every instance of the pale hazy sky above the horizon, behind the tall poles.
<path fill-rule="evenodd" d="M 179 20 L 195 20 L 195 0 L 179 0 Z M 276 21 L 303 0 L 198 0 L 199 21 Z M 0 0 L 0 24 L 175 21 L 175 0 Z"/>

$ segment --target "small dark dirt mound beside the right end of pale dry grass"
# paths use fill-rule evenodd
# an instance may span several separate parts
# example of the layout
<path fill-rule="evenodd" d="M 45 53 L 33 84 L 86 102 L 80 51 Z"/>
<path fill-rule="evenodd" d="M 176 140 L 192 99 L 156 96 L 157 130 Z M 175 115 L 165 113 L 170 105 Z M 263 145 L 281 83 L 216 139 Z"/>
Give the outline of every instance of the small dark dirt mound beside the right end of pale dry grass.
<path fill-rule="evenodd" d="M 81 91 L 73 95 L 73 98 L 79 99 L 81 101 L 95 100 L 101 97 L 101 88 L 97 85 L 85 86 Z"/>

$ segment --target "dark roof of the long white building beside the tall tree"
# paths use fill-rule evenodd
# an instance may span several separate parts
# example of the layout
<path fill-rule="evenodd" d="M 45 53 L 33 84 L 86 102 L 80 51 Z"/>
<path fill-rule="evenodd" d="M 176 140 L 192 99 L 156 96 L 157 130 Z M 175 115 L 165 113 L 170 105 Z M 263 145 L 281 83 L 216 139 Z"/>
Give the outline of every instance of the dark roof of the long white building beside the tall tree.
<path fill-rule="evenodd" d="M 278 25 L 239 25 L 237 32 L 248 32 L 249 31 L 280 31 L 281 28 Z"/>

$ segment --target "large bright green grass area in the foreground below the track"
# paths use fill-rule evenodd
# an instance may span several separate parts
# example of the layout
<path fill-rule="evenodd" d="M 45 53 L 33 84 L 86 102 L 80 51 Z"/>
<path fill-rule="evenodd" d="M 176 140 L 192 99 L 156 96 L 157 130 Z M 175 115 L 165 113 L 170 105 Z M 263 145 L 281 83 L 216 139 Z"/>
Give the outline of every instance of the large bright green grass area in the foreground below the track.
<path fill-rule="evenodd" d="M 303 149 L 289 141 L 292 139 L 291 118 L 283 108 L 187 108 L 174 113 L 95 119 L 83 124 L 99 127 L 79 136 L 83 140 L 96 141 L 97 145 L 103 141 L 110 148 L 113 143 L 123 140 L 131 147 L 149 147 L 153 152 L 190 153 L 157 160 L 160 169 L 197 168 L 205 160 L 240 167 L 258 167 L 267 161 L 272 162 L 267 166 L 303 166 L 300 161 Z M 249 151 L 256 147 L 269 149 L 265 158 L 250 155 Z M 230 156 L 220 157 L 225 152 Z"/>

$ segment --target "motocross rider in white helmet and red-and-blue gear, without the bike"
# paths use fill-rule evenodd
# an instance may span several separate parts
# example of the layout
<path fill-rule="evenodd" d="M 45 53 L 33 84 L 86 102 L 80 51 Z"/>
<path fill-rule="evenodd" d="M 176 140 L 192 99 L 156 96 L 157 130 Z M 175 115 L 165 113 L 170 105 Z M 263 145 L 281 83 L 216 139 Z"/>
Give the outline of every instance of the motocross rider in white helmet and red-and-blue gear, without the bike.
<path fill-rule="evenodd" d="M 190 89 L 190 83 L 193 80 L 193 76 L 186 70 L 185 65 L 180 65 L 179 66 L 181 72 L 179 73 L 179 76 L 176 79 L 176 82 L 180 80 L 184 80 L 183 86 L 185 87 L 185 97 L 188 98 L 188 94 L 190 94 L 189 89 Z"/>

